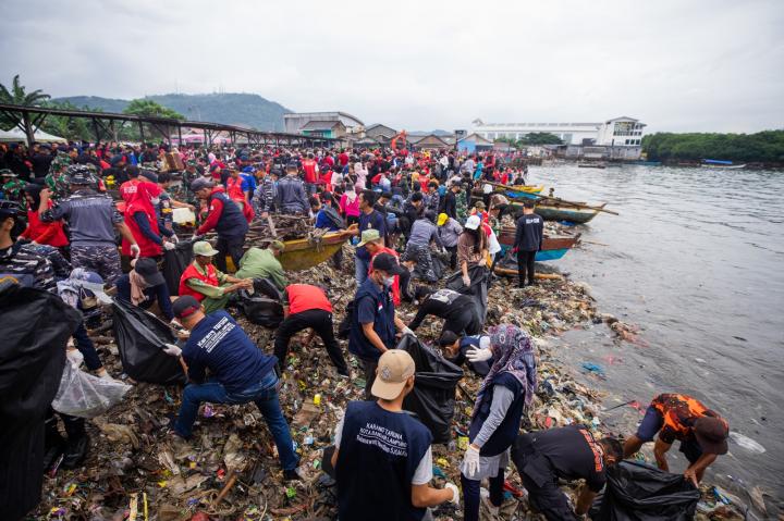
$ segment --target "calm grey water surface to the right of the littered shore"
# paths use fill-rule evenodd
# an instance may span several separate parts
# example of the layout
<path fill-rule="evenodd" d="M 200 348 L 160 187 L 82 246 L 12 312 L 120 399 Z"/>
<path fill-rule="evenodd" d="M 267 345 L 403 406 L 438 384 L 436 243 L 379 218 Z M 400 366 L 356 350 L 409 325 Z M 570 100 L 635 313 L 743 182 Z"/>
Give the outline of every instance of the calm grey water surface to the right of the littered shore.
<path fill-rule="evenodd" d="M 607 246 L 586 244 L 555 265 L 591 286 L 600 311 L 639 326 L 640 342 L 618 344 L 603 324 L 572 331 L 555 340 L 564 361 L 575 372 L 603 367 L 607 380 L 584 380 L 610 392 L 609 407 L 645 407 L 665 392 L 699 398 L 733 432 L 708 480 L 736 493 L 759 485 L 782 501 L 784 172 L 532 166 L 530 182 L 621 213 L 577 228 Z M 627 431 L 639 418 L 623 407 L 604 421 Z"/>

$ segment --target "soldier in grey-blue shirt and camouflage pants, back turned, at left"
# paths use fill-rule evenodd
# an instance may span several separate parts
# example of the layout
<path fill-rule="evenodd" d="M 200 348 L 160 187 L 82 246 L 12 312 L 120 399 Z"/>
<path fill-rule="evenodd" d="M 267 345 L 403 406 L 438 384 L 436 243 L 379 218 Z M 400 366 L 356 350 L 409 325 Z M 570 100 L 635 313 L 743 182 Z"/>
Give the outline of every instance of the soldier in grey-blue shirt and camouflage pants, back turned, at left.
<path fill-rule="evenodd" d="M 49 189 L 41 190 L 38 208 L 41 221 L 64 219 L 71 228 L 71 261 L 74 268 L 94 271 L 107 284 L 114 285 L 122 275 L 114 231 L 131 244 L 132 255 L 139 256 L 139 246 L 111 197 L 98 194 L 90 187 L 94 182 L 90 169 L 74 164 L 69 166 L 68 176 L 71 196 L 60 200 L 53 208 L 49 209 Z"/>

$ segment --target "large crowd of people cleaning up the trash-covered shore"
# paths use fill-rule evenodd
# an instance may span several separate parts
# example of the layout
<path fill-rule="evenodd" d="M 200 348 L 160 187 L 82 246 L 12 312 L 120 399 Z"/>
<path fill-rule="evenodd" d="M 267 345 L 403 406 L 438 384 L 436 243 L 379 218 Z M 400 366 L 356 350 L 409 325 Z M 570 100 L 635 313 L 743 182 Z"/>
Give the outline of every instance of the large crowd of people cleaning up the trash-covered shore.
<path fill-rule="evenodd" d="M 290 340 L 313 330 L 336 377 L 360 376 L 352 373 L 346 355 L 358 360 L 365 401 L 348 404 L 324 457 L 324 471 L 338 483 L 341 520 L 428 519 L 429 508 L 458 505 L 461 497 L 463 519 L 478 520 L 481 482 L 489 484 L 489 508 L 498 509 L 510 461 L 536 510 L 551 520 L 577 519 L 604 486 L 608 469 L 647 442 L 656 438 L 657 463 L 667 470 L 665 454 L 677 439 L 689 461 L 684 474 L 695 485 L 716 456 L 727 451 L 726 421 L 676 394 L 656 397 L 625 443 L 595 436 L 579 424 L 520 431 L 537 390 L 536 348 L 517 325 L 486 325 L 487 296 L 502 255 L 498 234 L 504 216 L 516 225 L 512 255 L 523 288 L 537 284 L 534 261 L 542 246 L 543 220 L 532 200 L 511 204 L 483 183 L 525 185 L 527 169 L 512 166 L 517 163 L 493 153 L 452 150 L 2 147 L 3 284 L 13 278 L 78 309 L 82 322 L 63 346 L 68 363 L 84 363 L 107 380 L 113 376 L 87 334 L 90 317 L 103 312 L 101 302 L 112 297 L 146 309 L 157 303 L 156 311 L 181 338 L 164 350 L 180 360 L 188 379 L 170 424 L 172 438 L 194 435 L 204 402 L 253 401 L 272 434 L 284 480 L 301 479 L 290 419 L 277 390 Z M 174 209 L 192 211 L 195 226 L 175 223 Z M 275 214 L 301 215 L 314 228 L 353 236 L 353 259 L 341 250 L 330 260 L 335 266 L 354 266 L 347 352 L 335 335 L 329 288 L 289 283 L 279 260 L 284 243 L 246 244 L 249 225 L 273 226 Z M 163 253 L 180 243 L 189 244 L 193 262 L 182 271 L 172 297 L 161 263 Z M 280 293 L 284 309 L 269 346 L 257 346 L 232 314 L 236 296 L 258 280 Z M 417 307 L 407 323 L 399 312 L 402 302 Z M 443 320 L 436 342 L 443 356 L 482 379 L 460 488 L 430 485 L 432 434 L 403 411 L 416 367 L 395 346 L 433 318 Z M 41 471 L 58 458 L 64 468 L 79 467 L 89 451 L 85 420 L 49 407 L 40 421 L 46 426 Z M 560 491 L 560 480 L 585 480 L 575 505 Z"/>

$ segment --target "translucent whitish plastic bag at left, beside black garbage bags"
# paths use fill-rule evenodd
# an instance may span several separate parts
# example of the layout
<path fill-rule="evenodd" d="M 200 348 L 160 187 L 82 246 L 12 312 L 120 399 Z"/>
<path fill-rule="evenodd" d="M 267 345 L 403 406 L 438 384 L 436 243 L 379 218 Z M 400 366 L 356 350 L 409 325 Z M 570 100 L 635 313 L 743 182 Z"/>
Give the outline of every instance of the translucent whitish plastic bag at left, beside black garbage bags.
<path fill-rule="evenodd" d="M 108 381 L 65 363 L 52 409 L 78 418 L 95 418 L 119 404 L 130 385 Z"/>

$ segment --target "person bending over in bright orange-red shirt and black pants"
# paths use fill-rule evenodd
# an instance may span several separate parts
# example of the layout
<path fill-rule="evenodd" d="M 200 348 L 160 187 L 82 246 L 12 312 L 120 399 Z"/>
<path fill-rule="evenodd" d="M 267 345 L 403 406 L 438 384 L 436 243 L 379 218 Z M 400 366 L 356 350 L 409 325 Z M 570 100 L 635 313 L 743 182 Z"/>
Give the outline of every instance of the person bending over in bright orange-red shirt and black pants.
<path fill-rule="evenodd" d="M 327 294 L 317 286 L 309 284 L 291 284 L 286 286 L 283 297 L 283 322 L 275 333 L 274 353 L 281 371 L 286 365 L 289 340 L 303 330 L 311 327 L 321 337 L 327 353 L 338 369 L 338 374 L 348 376 L 343 352 L 334 337 L 332 327 L 332 305 Z"/>

